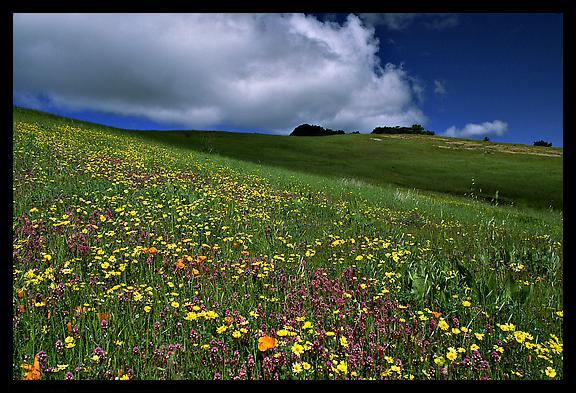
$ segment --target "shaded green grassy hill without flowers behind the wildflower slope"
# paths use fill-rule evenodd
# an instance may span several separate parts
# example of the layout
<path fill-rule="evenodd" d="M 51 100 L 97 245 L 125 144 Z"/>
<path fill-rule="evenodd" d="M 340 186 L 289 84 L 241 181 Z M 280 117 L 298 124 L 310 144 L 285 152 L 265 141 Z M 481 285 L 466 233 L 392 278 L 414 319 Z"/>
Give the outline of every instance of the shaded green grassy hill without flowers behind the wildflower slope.
<path fill-rule="evenodd" d="M 131 131 L 132 132 L 132 131 Z M 140 131 L 195 151 L 371 184 L 562 209 L 562 149 L 417 135 Z"/>

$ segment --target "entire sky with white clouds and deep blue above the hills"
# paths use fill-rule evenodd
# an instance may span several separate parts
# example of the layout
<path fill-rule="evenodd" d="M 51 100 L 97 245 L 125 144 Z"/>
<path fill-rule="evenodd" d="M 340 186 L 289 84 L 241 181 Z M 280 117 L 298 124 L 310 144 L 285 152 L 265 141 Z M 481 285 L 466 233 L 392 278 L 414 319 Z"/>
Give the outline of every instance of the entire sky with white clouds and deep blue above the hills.
<path fill-rule="evenodd" d="M 13 103 L 131 129 L 562 146 L 562 15 L 14 14 Z"/>

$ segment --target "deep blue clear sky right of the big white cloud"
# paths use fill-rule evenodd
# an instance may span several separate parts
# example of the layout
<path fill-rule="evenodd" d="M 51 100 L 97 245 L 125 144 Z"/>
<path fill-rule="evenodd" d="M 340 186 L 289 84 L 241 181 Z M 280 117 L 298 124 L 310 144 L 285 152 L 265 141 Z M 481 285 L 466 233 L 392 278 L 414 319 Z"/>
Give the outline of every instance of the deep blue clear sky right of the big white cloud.
<path fill-rule="evenodd" d="M 508 123 L 491 140 L 562 145 L 562 16 L 460 14 L 459 24 L 431 30 L 378 29 L 383 51 L 427 83 L 444 82 L 446 94 L 428 91 L 422 108 L 428 128 L 499 119 Z M 393 40 L 394 43 L 389 42 Z M 432 93 L 432 94 L 430 94 Z"/>

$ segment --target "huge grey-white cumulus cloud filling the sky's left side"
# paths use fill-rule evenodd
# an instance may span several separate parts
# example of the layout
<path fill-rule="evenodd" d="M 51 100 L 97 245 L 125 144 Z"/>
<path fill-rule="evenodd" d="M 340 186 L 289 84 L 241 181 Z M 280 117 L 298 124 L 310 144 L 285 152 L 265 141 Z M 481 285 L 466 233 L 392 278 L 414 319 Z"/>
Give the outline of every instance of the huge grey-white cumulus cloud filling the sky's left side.
<path fill-rule="evenodd" d="M 14 97 L 40 108 L 277 133 L 426 122 L 352 14 L 14 14 L 13 40 Z"/>

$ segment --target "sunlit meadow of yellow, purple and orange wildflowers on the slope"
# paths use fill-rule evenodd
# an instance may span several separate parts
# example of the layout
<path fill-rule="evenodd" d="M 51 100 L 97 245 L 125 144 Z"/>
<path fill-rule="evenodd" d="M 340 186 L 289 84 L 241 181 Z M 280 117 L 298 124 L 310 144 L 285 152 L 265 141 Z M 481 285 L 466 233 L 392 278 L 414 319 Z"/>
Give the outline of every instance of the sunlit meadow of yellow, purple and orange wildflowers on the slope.
<path fill-rule="evenodd" d="M 13 141 L 14 379 L 562 378 L 556 213 L 17 112 Z"/>

